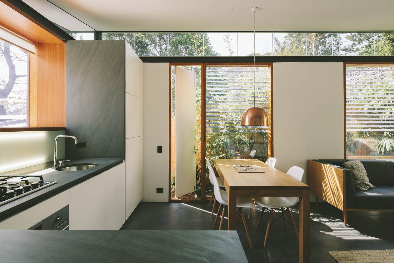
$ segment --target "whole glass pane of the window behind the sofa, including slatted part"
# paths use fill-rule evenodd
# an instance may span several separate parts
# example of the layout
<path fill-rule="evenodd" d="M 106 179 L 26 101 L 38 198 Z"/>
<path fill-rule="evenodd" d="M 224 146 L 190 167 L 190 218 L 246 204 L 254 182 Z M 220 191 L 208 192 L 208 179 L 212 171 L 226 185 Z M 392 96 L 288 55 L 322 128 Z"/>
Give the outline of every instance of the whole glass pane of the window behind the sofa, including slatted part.
<path fill-rule="evenodd" d="M 346 158 L 393 159 L 394 67 L 346 67 Z"/>

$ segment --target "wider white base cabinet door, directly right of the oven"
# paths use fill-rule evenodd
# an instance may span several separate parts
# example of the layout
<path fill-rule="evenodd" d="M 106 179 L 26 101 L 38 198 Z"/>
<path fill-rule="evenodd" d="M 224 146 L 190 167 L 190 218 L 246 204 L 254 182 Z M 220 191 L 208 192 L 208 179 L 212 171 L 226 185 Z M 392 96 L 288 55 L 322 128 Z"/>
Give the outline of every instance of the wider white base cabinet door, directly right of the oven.
<path fill-rule="evenodd" d="M 69 190 L 71 230 L 105 229 L 105 173 Z"/>

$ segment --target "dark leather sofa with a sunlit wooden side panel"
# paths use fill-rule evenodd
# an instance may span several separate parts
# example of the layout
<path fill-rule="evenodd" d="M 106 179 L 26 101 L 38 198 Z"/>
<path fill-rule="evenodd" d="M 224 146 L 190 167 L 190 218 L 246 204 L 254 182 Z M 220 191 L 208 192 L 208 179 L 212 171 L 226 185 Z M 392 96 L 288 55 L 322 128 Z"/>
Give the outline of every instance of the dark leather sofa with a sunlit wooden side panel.
<path fill-rule="evenodd" d="M 360 191 L 354 188 L 351 172 L 342 164 L 346 160 L 352 159 L 308 160 L 310 192 L 344 211 L 345 225 L 348 211 L 394 211 L 394 161 L 361 159 L 375 187 Z"/>

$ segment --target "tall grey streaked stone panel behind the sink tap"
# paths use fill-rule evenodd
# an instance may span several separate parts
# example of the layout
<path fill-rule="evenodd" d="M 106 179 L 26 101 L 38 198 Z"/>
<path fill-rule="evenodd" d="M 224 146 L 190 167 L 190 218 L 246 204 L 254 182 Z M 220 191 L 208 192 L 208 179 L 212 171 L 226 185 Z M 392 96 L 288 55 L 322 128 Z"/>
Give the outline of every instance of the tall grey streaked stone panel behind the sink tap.
<path fill-rule="evenodd" d="M 125 42 L 66 42 L 66 158 L 125 157 Z"/>

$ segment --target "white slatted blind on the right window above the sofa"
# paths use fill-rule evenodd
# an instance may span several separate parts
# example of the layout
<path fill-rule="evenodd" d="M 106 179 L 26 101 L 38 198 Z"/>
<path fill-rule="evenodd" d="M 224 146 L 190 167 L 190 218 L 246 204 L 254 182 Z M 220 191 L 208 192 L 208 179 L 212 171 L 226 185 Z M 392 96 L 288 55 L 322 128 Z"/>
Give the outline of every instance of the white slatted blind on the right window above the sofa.
<path fill-rule="evenodd" d="M 394 131 L 394 67 L 346 67 L 346 131 Z"/>

